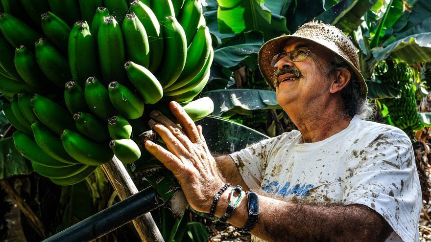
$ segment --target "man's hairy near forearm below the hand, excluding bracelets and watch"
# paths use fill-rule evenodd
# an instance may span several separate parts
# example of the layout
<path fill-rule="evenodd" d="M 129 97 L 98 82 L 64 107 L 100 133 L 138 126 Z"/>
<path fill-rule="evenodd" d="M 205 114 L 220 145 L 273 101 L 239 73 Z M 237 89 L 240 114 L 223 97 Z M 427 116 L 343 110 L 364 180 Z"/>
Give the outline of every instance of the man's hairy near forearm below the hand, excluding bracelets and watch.
<path fill-rule="evenodd" d="M 223 216 L 228 199 L 228 194 L 220 198 L 217 217 Z M 383 242 L 392 232 L 381 215 L 360 204 L 321 206 L 259 196 L 259 207 L 259 221 L 251 234 L 268 242 Z M 228 222 L 241 228 L 247 218 L 244 199 Z"/>

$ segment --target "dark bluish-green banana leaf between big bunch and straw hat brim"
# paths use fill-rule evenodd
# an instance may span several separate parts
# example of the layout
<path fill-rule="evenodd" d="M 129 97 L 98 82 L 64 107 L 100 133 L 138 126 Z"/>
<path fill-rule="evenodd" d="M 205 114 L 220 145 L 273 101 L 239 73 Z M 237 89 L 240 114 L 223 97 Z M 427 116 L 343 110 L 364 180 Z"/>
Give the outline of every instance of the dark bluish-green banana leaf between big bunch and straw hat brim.
<path fill-rule="evenodd" d="M 258 31 L 239 34 L 224 44 L 217 46 L 214 51 L 214 62 L 226 68 L 235 68 L 252 58 L 253 63 L 261 48 L 263 35 Z"/>

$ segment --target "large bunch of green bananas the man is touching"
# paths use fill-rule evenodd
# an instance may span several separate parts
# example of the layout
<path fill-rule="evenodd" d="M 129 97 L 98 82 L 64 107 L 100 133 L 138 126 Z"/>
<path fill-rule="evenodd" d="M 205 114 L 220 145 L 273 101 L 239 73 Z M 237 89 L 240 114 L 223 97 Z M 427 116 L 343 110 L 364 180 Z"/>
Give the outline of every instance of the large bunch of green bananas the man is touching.
<path fill-rule="evenodd" d="M 77 183 L 114 155 L 140 159 L 146 114 L 172 117 L 170 101 L 194 120 L 213 111 L 210 98 L 191 102 L 214 55 L 200 0 L 0 3 L 3 111 L 17 150 L 54 183 Z"/>

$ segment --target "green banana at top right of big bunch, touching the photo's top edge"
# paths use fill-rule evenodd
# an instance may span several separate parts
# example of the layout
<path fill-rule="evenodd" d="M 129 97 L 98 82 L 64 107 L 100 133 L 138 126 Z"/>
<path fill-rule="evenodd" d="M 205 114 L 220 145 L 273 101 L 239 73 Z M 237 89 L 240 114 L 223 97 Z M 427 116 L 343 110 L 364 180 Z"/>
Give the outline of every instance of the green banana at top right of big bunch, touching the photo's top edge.
<path fill-rule="evenodd" d="M 178 16 L 178 22 L 183 26 L 187 37 L 187 44 L 192 43 L 194 34 L 199 26 L 202 16 L 202 4 L 200 0 L 187 0 Z"/>

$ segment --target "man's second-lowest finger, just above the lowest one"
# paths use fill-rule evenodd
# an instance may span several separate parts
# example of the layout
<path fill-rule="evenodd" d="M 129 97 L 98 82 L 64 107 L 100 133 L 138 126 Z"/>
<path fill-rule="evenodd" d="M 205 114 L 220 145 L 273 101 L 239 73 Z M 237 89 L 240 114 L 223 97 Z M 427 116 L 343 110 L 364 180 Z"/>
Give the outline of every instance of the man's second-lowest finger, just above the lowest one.
<path fill-rule="evenodd" d="M 184 147 L 184 145 L 175 137 L 169 129 L 161 124 L 151 119 L 148 122 L 148 125 L 157 132 L 160 137 L 163 139 L 165 144 L 168 146 L 168 149 L 175 154 L 176 156 L 184 156 L 184 154 L 188 154 L 189 152 Z"/>

